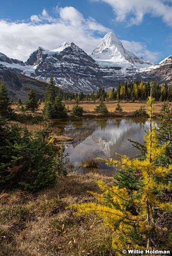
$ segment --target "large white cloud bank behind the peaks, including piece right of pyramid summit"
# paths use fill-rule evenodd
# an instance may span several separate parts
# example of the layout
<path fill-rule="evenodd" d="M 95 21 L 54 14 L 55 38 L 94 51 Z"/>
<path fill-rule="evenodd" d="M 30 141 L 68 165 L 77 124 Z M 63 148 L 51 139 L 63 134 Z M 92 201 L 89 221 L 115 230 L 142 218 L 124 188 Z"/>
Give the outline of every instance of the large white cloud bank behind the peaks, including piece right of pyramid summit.
<path fill-rule="evenodd" d="M 9 22 L 0 20 L 0 52 L 10 58 L 25 61 L 39 46 L 45 49 L 56 49 L 64 41 L 73 41 L 87 54 L 99 44 L 103 35 L 110 29 L 98 23 L 93 17 L 85 19 L 75 8 L 69 6 L 55 8 L 55 17 L 46 9 L 40 15 L 32 15 L 30 22 Z M 102 34 L 95 37 L 94 33 Z M 158 52 L 150 52 L 146 44 L 122 41 L 124 47 L 138 56 L 156 61 Z"/>

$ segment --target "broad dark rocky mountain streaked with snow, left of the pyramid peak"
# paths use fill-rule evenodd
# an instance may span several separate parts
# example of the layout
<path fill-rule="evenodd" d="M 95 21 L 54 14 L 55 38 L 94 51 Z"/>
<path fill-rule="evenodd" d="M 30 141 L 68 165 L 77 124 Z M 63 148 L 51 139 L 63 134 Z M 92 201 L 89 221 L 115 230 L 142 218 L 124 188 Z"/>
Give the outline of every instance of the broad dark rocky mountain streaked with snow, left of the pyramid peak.
<path fill-rule="evenodd" d="M 39 47 L 26 64 L 33 65 L 35 72 L 31 73 L 32 77 L 49 81 L 53 74 L 56 84 L 73 92 L 89 93 L 107 85 L 96 61 L 73 42 L 65 42 L 54 50 Z"/>

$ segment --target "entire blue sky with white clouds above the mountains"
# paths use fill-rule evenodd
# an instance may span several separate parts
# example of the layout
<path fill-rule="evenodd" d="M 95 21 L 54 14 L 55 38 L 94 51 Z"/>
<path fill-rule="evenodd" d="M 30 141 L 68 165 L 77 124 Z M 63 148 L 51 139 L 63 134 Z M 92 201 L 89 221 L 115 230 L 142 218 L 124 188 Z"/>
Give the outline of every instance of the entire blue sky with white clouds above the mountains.
<path fill-rule="evenodd" d="M 39 46 L 73 41 L 91 54 L 113 31 L 135 55 L 158 63 L 172 54 L 172 0 L 6 0 L 0 52 L 25 61 Z"/>

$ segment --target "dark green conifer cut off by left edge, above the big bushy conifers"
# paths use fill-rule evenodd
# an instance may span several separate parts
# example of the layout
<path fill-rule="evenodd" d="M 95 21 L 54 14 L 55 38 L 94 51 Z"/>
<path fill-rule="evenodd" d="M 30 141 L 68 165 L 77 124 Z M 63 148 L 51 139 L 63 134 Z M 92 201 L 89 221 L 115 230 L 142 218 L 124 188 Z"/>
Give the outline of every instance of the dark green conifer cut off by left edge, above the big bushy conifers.
<path fill-rule="evenodd" d="M 8 96 L 8 90 L 3 82 L 0 82 L 0 116 L 10 117 L 11 114 L 11 100 Z"/>

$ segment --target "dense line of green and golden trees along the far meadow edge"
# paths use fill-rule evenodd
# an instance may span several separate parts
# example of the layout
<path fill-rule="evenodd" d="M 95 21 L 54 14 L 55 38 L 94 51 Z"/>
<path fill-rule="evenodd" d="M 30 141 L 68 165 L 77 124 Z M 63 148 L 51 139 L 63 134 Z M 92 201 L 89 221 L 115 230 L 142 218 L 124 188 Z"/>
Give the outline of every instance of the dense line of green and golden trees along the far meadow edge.
<path fill-rule="evenodd" d="M 172 100 L 172 88 L 167 84 L 159 85 L 158 83 L 143 83 L 142 81 L 130 81 L 126 83 L 119 83 L 117 88 L 112 88 L 105 90 L 100 87 L 97 92 L 85 94 L 71 93 L 71 95 L 63 93 L 63 100 L 73 100 L 78 99 L 79 101 L 95 101 L 99 99 L 100 101 L 113 101 L 113 100 L 146 100 L 150 95 L 150 90 L 152 88 L 152 97 L 156 101 L 166 101 Z"/>

